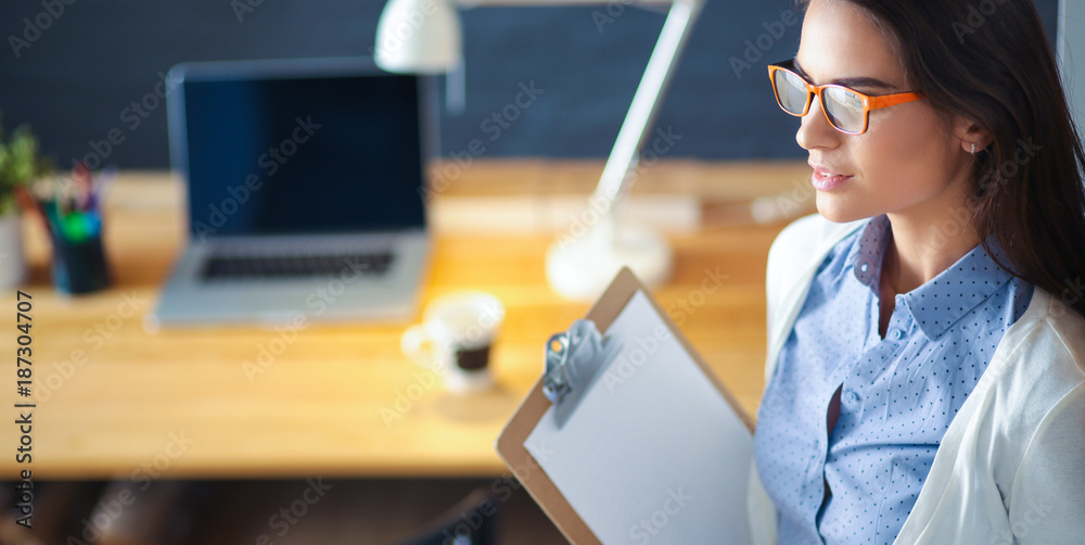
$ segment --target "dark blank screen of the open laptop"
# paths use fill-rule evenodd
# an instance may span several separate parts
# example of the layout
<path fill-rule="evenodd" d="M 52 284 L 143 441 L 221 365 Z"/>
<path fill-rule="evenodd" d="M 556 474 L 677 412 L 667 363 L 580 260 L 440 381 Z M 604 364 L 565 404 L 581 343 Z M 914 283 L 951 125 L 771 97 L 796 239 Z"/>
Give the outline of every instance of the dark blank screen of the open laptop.
<path fill-rule="evenodd" d="M 424 226 L 417 77 L 210 72 L 182 76 L 194 237 Z"/>

